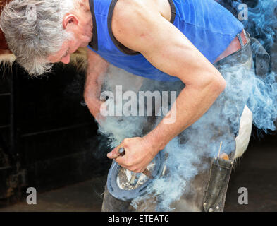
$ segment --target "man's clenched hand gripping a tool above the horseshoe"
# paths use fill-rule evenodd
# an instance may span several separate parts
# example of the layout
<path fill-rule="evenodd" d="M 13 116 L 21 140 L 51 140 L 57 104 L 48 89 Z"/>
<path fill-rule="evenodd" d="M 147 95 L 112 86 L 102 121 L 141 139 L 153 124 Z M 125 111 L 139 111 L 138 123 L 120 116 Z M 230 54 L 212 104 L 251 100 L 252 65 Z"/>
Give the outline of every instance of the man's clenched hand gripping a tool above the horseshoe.
<path fill-rule="evenodd" d="M 119 148 L 125 148 L 125 155 L 120 156 Z M 108 157 L 115 159 L 119 165 L 132 172 L 143 172 L 149 163 L 154 159 L 159 149 L 149 143 L 144 137 L 126 138 L 123 142 L 114 148 Z"/>

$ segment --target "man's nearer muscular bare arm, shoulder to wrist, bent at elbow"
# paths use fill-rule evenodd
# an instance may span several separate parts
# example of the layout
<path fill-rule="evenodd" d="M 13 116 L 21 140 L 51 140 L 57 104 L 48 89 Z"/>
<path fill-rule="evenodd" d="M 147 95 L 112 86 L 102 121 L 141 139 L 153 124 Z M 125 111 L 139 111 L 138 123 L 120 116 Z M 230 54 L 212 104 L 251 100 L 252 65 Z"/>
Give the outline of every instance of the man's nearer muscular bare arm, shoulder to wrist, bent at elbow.
<path fill-rule="evenodd" d="M 157 69 L 180 78 L 185 88 L 166 118 L 176 113 L 176 121 L 164 120 L 145 138 L 155 151 L 207 112 L 225 88 L 216 68 L 174 25 L 151 6 L 152 1 L 119 0 L 113 13 L 112 30 L 125 47 L 140 52 Z M 156 154 L 156 153 L 153 153 Z"/>

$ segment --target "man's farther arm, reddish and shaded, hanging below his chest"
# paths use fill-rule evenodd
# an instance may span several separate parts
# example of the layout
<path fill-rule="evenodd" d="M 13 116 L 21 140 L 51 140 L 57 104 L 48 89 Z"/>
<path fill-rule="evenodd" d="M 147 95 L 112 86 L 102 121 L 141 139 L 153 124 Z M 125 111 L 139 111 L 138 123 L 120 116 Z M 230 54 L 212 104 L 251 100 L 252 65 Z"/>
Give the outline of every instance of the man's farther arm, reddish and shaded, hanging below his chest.
<path fill-rule="evenodd" d="M 87 76 L 85 81 L 85 102 L 92 115 L 97 119 L 101 101 L 101 85 L 109 63 L 92 50 L 87 49 Z"/>

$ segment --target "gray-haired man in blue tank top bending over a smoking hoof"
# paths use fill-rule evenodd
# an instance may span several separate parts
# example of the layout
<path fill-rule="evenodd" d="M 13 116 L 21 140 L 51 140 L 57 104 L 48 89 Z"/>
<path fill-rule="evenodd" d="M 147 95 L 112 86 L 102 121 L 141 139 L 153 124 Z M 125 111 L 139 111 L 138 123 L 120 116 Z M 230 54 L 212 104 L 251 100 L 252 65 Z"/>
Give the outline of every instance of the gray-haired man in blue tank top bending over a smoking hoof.
<path fill-rule="evenodd" d="M 169 141 L 213 105 L 226 87 L 218 69 L 230 63 L 230 55 L 235 66 L 249 69 L 251 64 L 242 24 L 214 0 L 13 0 L 0 24 L 19 64 L 33 75 L 59 61 L 68 64 L 70 54 L 89 45 L 85 101 L 98 121 L 101 76 L 109 63 L 137 76 L 185 84 L 152 131 L 126 138 L 108 154 L 133 172 L 143 172 Z M 246 57 L 238 57 L 240 49 Z M 176 121 L 165 124 L 172 114 Z M 233 131 L 238 133 L 238 125 Z M 121 147 L 124 156 L 118 154 Z"/>

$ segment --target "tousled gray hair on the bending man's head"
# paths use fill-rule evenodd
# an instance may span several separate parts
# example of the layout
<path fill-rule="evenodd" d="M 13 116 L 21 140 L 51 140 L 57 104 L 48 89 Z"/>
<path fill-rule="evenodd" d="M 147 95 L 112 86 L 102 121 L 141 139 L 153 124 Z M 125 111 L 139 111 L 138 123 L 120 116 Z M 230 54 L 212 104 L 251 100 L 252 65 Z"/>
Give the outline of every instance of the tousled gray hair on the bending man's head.
<path fill-rule="evenodd" d="M 51 71 L 49 55 L 61 49 L 71 34 L 63 29 L 63 17 L 75 7 L 75 0 L 13 0 L 0 18 L 8 47 L 18 63 L 38 76 Z"/>

